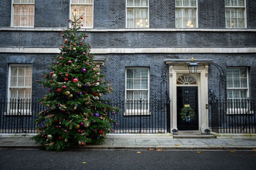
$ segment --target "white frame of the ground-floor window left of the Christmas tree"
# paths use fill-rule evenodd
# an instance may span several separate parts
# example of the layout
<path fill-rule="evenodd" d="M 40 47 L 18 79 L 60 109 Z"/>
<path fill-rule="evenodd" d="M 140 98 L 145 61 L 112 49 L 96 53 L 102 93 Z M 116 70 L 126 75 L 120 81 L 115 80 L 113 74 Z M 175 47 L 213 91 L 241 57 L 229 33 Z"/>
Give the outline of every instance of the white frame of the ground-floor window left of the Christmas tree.
<path fill-rule="evenodd" d="M 28 108 L 30 109 L 10 109 L 10 102 L 12 102 L 13 100 L 11 100 L 11 91 L 10 91 L 10 88 L 11 88 L 11 67 L 32 67 L 32 75 L 33 75 L 33 66 L 32 64 L 9 64 L 9 68 L 8 68 L 8 104 L 7 104 L 7 112 L 4 113 L 4 115 L 11 115 L 11 116 L 14 116 L 14 115 L 18 115 L 18 116 L 21 116 L 18 111 L 22 110 L 22 116 L 28 116 L 28 115 L 32 115 L 32 112 L 31 112 L 31 98 L 32 98 L 32 83 L 31 83 L 31 87 L 22 87 L 22 88 L 31 88 L 31 93 L 30 93 L 30 98 L 20 98 L 20 100 L 23 100 L 23 99 L 30 99 L 30 106 L 28 106 Z M 25 73 L 26 75 L 26 73 Z M 33 76 L 31 75 L 31 81 L 32 81 L 32 78 Z M 18 75 L 17 75 L 18 77 Z M 18 87 L 17 87 L 18 88 Z M 18 96 L 19 97 L 19 96 Z M 16 100 L 17 102 L 17 100 Z M 22 101 L 21 101 L 22 102 Z"/>

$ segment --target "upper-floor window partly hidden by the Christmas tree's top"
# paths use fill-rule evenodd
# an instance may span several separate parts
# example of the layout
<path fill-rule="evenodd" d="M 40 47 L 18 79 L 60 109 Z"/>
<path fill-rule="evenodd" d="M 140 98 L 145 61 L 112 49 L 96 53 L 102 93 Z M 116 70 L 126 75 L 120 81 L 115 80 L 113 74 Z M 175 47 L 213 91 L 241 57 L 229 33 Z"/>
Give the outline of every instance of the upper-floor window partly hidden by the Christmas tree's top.
<path fill-rule="evenodd" d="M 82 27 L 93 28 L 93 0 L 71 0 L 71 13 L 70 18 L 73 19 L 73 15 L 82 19 Z"/>

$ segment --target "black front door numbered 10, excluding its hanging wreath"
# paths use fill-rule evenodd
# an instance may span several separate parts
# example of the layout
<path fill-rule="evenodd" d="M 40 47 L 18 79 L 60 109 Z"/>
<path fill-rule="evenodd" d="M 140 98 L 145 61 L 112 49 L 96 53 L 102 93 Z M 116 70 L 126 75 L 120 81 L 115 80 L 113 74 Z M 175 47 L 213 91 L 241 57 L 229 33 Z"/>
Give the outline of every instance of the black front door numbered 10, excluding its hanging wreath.
<path fill-rule="evenodd" d="M 190 122 L 180 118 L 180 111 L 184 104 L 194 110 L 195 116 Z M 197 87 L 177 87 L 177 128 L 178 130 L 198 130 L 198 100 Z"/>

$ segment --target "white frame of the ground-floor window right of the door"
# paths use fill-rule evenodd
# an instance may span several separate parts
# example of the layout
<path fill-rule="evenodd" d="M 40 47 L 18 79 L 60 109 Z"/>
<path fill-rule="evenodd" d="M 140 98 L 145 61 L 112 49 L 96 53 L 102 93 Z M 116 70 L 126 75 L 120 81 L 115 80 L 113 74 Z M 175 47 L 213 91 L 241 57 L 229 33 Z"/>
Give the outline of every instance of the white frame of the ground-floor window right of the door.
<path fill-rule="evenodd" d="M 247 68 L 247 67 L 228 67 L 227 69 L 246 69 L 246 77 L 247 77 L 247 88 L 245 88 L 245 87 L 228 87 L 227 86 L 227 90 L 228 89 L 247 89 L 247 93 L 246 93 L 246 95 L 247 95 L 247 97 L 249 97 L 249 69 Z M 240 71 L 239 71 L 240 72 Z M 233 79 L 234 77 L 232 77 L 232 79 Z M 228 77 L 226 77 L 226 79 L 228 79 Z M 240 76 L 239 76 L 239 80 L 241 81 L 241 78 L 240 78 Z M 241 82 L 240 82 L 240 85 L 241 85 Z M 233 83 L 233 86 L 234 86 L 234 83 Z M 233 95 L 232 95 L 233 96 Z M 229 100 L 234 100 L 234 102 L 236 102 L 236 98 L 228 98 L 228 96 L 227 96 L 227 102 L 229 101 Z M 239 100 L 239 101 L 241 101 L 241 98 L 237 98 L 237 100 Z M 241 106 L 240 106 L 241 107 Z M 234 106 L 232 106 L 232 108 L 229 108 L 229 106 L 227 105 L 227 111 L 226 111 L 226 113 L 228 114 L 228 115 L 232 115 L 232 114 L 245 114 L 246 112 L 247 112 L 247 110 L 248 110 L 248 108 L 247 108 L 248 106 L 247 106 L 247 103 L 246 103 L 246 107 L 245 108 L 234 108 Z M 250 111 L 250 114 L 252 114 L 253 113 L 253 111 Z"/>

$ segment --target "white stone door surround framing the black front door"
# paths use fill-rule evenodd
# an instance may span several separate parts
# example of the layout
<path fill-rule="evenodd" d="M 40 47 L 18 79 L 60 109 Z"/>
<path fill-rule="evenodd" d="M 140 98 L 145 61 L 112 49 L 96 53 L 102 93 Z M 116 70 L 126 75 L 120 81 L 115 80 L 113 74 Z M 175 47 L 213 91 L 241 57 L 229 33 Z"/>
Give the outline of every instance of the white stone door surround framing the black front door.
<path fill-rule="evenodd" d="M 177 60 L 176 60 L 177 61 Z M 184 61 L 184 60 L 183 60 Z M 201 60 L 202 61 L 202 60 Z M 205 61 L 205 60 L 204 60 Z M 166 64 L 171 64 L 174 60 L 165 61 Z M 189 64 L 189 61 L 185 61 Z M 198 130 L 204 133 L 205 129 L 209 129 L 208 119 L 208 65 L 204 64 L 197 68 L 197 82 L 198 82 Z M 189 69 L 185 68 L 185 64 L 174 64 L 169 65 L 169 97 L 171 99 L 171 131 L 177 129 L 177 74 L 178 73 L 189 73 Z M 177 129 L 178 130 L 178 129 Z"/>

